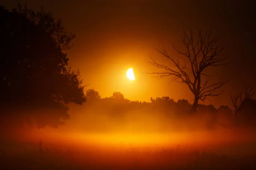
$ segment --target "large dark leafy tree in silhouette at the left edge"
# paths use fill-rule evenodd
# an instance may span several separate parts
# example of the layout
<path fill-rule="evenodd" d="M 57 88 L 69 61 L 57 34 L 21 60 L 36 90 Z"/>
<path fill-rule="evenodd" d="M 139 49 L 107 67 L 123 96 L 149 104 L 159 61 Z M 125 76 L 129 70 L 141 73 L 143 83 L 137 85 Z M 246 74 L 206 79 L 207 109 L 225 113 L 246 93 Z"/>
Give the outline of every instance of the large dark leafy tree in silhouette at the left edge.
<path fill-rule="evenodd" d="M 58 127 L 69 119 L 66 104 L 85 102 L 80 73 L 64 52 L 74 37 L 50 12 L 0 6 L 1 120 L 31 113 L 39 127 Z"/>

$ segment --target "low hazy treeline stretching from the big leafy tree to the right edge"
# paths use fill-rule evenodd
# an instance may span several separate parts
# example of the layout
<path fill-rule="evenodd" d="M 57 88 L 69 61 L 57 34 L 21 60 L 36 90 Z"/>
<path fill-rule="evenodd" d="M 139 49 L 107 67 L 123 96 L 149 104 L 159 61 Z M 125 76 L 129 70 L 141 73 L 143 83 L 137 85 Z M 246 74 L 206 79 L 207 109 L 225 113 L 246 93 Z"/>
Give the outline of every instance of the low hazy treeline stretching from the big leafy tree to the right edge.
<path fill-rule="evenodd" d="M 216 108 L 214 105 L 199 104 L 197 113 L 191 113 L 192 104 L 187 99 L 175 101 L 169 96 L 150 99 L 150 102 L 132 101 L 126 99 L 120 92 L 114 92 L 112 96 L 102 98 L 99 92 L 94 89 L 86 91 L 87 101 L 84 105 L 86 111 L 93 114 L 108 114 L 108 116 L 125 116 L 131 113 L 142 114 L 143 116 L 154 115 L 165 119 L 188 120 L 197 116 L 199 119 L 207 117 L 209 128 L 216 125 L 230 128 L 235 126 L 254 126 L 256 100 L 251 96 L 241 99 L 241 103 L 235 109 L 234 106 L 221 105 Z"/>

